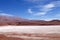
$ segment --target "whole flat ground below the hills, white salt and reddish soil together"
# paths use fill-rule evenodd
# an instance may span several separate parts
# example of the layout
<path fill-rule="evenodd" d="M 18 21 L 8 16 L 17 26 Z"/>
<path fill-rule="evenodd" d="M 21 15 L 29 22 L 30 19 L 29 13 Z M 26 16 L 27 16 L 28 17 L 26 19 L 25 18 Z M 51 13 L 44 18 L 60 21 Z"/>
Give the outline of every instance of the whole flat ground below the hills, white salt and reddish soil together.
<path fill-rule="evenodd" d="M 0 40 L 60 40 L 60 25 L 0 26 Z"/>

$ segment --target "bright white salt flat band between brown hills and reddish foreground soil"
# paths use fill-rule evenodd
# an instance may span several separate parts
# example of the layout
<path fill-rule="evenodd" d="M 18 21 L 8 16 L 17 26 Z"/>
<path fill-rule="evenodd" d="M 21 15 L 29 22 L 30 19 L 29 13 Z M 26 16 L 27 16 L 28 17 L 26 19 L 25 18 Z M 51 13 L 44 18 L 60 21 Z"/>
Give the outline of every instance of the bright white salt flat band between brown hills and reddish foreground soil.
<path fill-rule="evenodd" d="M 60 26 L 1 26 L 0 33 L 60 33 Z"/>

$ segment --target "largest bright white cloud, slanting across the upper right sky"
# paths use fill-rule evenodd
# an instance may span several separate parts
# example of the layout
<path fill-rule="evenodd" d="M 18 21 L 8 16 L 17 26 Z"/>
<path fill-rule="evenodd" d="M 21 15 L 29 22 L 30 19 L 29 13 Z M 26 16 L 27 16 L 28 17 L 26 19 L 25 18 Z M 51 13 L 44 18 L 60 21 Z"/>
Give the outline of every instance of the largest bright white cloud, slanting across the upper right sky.
<path fill-rule="evenodd" d="M 47 5 L 44 5 L 43 7 L 42 7 L 42 9 L 41 9 L 41 11 L 40 12 L 37 12 L 36 14 L 34 14 L 34 15 L 45 15 L 45 14 L 47 14 L 47 12 L 49 12 L 49 11 L 51 11 L 53 8 L 55 7 L 55 5 L 54 4 L 47 4 Z"/>

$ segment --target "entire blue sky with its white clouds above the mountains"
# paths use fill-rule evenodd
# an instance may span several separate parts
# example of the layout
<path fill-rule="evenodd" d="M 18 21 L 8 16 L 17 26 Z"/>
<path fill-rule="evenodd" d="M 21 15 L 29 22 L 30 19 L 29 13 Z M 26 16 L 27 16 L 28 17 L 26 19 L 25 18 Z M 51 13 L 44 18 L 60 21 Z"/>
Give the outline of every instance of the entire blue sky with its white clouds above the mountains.
<path fill-rule="evenodd" d="M 0 15 L 33 20 L 60 19 L 60 0 L 0 0 Z"/>

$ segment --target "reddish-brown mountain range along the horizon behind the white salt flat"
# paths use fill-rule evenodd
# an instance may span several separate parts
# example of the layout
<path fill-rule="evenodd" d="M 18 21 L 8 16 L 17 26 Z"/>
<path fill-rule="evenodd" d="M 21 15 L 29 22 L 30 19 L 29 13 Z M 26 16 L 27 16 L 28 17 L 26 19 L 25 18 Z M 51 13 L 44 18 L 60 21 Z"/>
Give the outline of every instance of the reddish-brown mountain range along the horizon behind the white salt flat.
<path fill-rule="evenodd" d="M 0 25 L 60 25 L 60 20 L 28 20 L 20 17 L 0 16 Z"/>

